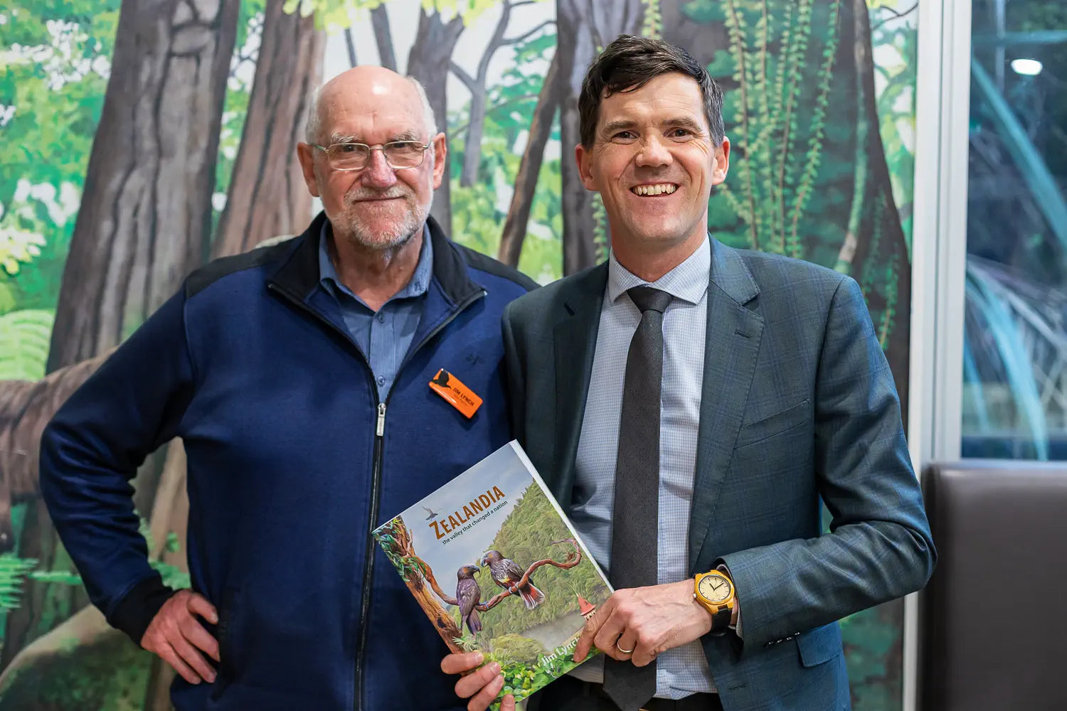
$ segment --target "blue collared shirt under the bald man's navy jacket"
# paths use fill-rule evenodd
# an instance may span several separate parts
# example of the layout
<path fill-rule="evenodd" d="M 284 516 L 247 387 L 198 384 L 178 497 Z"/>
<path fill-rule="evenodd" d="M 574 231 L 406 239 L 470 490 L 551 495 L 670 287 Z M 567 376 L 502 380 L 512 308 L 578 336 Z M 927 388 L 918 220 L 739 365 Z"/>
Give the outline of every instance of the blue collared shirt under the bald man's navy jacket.
<path fill-rule="evenodd" d="M 418 253 L 418 264 L 415 265 L 411 280 L 377 312 L 341 284 L 333 260 L 330 259 L 332 239 L 330 223 L 327 222 L 322 225 L 319 238 L 319 286 L 337 302 L 349 335 L 370 363 L 370 371 L 378 385 L 379 402 L 385 402 L 400 363 L 415 337 L 418 320 L 423 316 L 426 290 L 433 276 L 430 230 L 424 225 L 423 248 Z"/>

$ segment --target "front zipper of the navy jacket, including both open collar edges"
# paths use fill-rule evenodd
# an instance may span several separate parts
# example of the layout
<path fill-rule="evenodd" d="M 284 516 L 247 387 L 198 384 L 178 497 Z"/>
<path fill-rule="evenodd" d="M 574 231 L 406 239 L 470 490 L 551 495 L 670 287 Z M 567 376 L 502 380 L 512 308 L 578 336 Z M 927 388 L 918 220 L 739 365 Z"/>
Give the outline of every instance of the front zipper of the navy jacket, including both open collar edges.
<path fill-rule="evenodd" d="M 350 334 L 343 332 L 340 328 L 331 323 L 328 319 L 323 318 L 322 314 L 320 314 L 318 311 L 304 304 L 302 300 L 293 296 L 288 291 L 282 289 L 281 287 L 277 287 L 276 285 L 271 284 L 268 286 L 268 288 L 272 291 L 278 292 L 280 294 L 288 298 L 290 302 L 296 304 L 299 308 L 312 314 L 322 323 L 327 324 L 330 328 L 340 334 L 350 343 L 355 345 L 354 341 L 352 341 L 352 337 Z M 411 359 L 413 355 L 418 353 L 418 351 L 420 351 L 423 346 L 430 341 L 430 339 L 440 334 L 445 326 L 455 321 L 456 317 L 458 317 L 460 313 L 466 310 L 468 306 L 474 304 L 476 301 L 482 298 L 485 295 L 485 293 L 487 292 L 484 290 L 481 290 L 471 294 L 465 300 L 460 302 L 456 306 L 456 309 L 451 312 L 451 314 L 449 314 L 447 319 L 442 321 L 440 324 L 437 324 L 437 326 L 433 330 L 428 333 L 426 337 L 418 342 L 418 345 L 416 345 L 413 349 L 410 349 L 408 351 L 408 356 L 403 359 L 403 361 L 401 361 L 400 367 L 397 369 L 397 378 L 400 377 L 400 373 L 403 372 L 404 366 L 408 365 L 408 361 Z M 367 373 L 369 373 L 370 377 L 370 385 L 375 389 L 375 402 L 378 403 L 378 418 L 375 421 L 375 458 L 373 458 L 373 464 L 371 465 L 370 518 L 367 524 L 367 547 L 364 551 L 364 561 L 363 561 L 363 605 L 360 611 L 360 646 L 355 652 L 355 689 L 353 690 L 354 710 L 363 711 L 364 709 L 363 658 L 367 651 L 367 612 L 370 609 L 370 588 L 375 573 L 373 530 L 378 528 L 378 504 L 379 504 L 379 495 L 382 483 L 382 458 L 383 458 L 382 450 L 384 449 L 384 442 L 385 442 L 385 410 L 388 405 L 389 398 L 393 395 L 393 390 L 392 389 L 389 390 L 389 394 L 385 395 L 385 402 L 382 402 L 380 394 L 378 392 L 378 383 L 375 381 L 373 371 L 371 371 L 370 369 L 370 361 L 367 360 L 367 357 L 365 355 L 363 355 L 363 352 L 360 351 L 359 346 L 356 346 L 355 350 L 356 353 L 360 354 L 360 357 L 363 359 L 363 363 L 367 367 Z M 395 382 L 396 378 L 394 378 L 394 383 Z"/>

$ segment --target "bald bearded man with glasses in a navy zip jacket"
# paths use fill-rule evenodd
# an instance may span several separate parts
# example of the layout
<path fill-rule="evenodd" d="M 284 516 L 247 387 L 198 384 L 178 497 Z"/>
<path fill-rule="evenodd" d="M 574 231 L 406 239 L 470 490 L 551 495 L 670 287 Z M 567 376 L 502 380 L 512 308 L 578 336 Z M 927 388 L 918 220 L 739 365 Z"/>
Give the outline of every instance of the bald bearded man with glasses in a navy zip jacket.
<path fill-rule="evenodd" d="M 414 80 L 329 82 L 299 146 L 323 213 L 193 273 L 45 432 L 55 527 L 108 620 L 180 675 L 178 711 L 458 704 L 370 531 L 511 438 L 499 323 L 532 282 L 428 217 L 445 151 Z M 442 368 L 483 399 L 469 419 L 429 387 Z M 128 484 L 176 436 L 192 580 L 177 593 Z"/>

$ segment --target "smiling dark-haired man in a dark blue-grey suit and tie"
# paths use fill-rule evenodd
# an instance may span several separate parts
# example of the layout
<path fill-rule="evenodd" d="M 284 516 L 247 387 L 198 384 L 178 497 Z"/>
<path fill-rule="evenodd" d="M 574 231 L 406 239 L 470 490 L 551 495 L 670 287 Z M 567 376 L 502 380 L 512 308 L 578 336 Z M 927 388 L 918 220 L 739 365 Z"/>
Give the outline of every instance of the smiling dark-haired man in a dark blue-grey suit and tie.
<path fill-rule="evenodd" d="M 847 709 L 837 620 L 935 562 L 863 295 L 707 235 L 730 142 L 684 50 L 616 39 L 578 108 L 611 257 L 509 306 L 505 349 L 516 434 L 616 593 L 575 650 L 606 658 L 540 708 Z M 492 668 L 457 684 L 472 709 L 499 688 Z"/>

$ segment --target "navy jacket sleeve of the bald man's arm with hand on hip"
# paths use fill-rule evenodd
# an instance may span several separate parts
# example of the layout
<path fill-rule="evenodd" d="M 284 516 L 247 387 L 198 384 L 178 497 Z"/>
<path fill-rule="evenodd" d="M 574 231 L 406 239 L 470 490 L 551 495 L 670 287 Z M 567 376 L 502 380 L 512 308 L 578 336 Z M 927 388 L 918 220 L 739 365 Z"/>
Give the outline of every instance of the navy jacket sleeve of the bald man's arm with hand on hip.
<path fill-rule="evenodd" d="M 148 564 L 130 480 L 178 434 L 192 397 L 184 311 L 182 293 L 163 304 L 60 407 L 41 439 L 41 491 L 55 530 L 90 599 L 136 643 L 173 594 Z"/>

